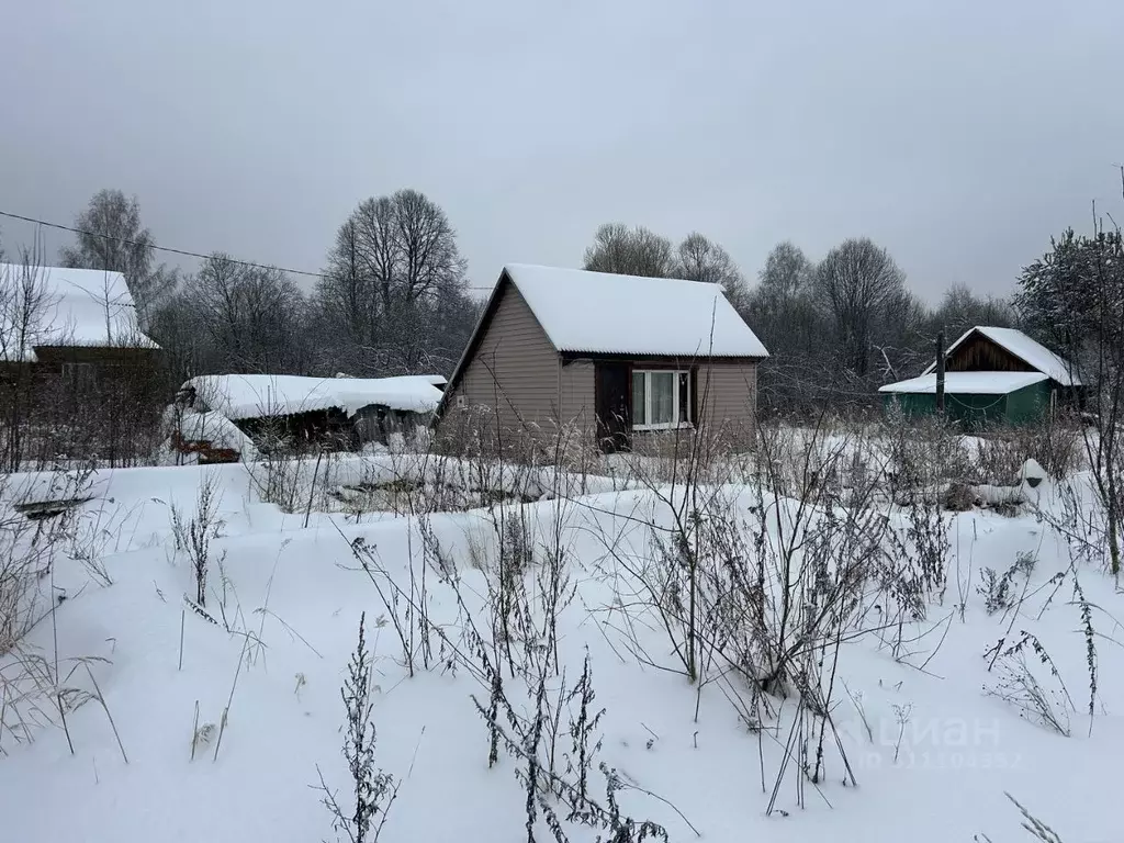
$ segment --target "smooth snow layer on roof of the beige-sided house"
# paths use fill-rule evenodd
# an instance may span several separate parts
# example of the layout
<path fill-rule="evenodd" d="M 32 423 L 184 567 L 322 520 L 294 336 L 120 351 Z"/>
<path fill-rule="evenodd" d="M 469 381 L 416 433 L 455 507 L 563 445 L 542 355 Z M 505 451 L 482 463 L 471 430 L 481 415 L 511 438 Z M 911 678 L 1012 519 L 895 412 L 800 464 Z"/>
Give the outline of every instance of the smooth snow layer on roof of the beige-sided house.
<path fill-rule="evenodd" d="M 527 264 L 505 272 L 560 352 L 769 355 L 718 284 Z"/>

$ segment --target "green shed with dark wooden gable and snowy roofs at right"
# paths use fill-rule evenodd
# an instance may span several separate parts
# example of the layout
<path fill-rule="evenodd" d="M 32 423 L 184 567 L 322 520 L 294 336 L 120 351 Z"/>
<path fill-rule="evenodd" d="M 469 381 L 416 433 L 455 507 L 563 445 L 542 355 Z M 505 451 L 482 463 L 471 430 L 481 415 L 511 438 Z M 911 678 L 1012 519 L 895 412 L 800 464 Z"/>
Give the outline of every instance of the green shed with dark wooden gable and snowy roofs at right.
<path fill-rule="evenodd" d="M 1081 406 L 1084 386 L 1073 366 L 1014 328 L 969 328 L 949 346 L 944 369 L 945 414 L 969 428 L 1033 423 L 1059 407 Z M 936 361 L 879 392 L 888 409 L 934 414 Z"/>

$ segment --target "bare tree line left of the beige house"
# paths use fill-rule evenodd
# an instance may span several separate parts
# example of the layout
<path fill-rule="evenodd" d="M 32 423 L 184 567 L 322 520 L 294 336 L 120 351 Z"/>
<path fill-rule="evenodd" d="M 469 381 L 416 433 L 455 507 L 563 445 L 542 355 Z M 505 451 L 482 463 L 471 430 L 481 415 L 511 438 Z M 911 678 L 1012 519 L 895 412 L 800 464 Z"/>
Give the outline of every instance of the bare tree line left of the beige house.
<path fill-rule="evenodd" d="M 62 264 L 124 273 L 172 380 L 444 372 L 478 314 L 448 218 L 415 190 L 361 202 L 339 226 L 312 289 L 223 252 L 194 272 L 157 263 L 137 199 L 120 191 L 97 193 L 74 228 Z"/>

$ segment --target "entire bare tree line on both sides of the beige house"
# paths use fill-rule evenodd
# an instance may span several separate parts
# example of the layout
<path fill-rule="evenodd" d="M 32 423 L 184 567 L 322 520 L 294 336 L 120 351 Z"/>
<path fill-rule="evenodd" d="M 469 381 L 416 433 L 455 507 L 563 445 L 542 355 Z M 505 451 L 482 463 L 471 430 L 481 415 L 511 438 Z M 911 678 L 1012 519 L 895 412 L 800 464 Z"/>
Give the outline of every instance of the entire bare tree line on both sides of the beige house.
<path fill-rule="evenodd" d="M 194 272 L 158 263 L 138 201 L 120 191 L 97 193 L 74 228 L 81 234 L 61 262 L 125 274 L 172 380 L 210 372 L 447 374 L 481 309 L 452 223 L 416 190 L 360 202 L 307 291 L 281 269 L 225 253 Z M 890 253 L 869 238 L 844 241 L 819 260 L 780 243 L 751 285 L 701 233 L 673 243 L 611 223 L 595 233 L 583 266 L 720 284 L 772 354 L 760 381 L 767 408 L 869 400 L 880 383 L 921 371 L 939 329 L 951 339 L 972 325 L 1023 321 L 1012 299 L 966 285 L 926 307 Z"/>

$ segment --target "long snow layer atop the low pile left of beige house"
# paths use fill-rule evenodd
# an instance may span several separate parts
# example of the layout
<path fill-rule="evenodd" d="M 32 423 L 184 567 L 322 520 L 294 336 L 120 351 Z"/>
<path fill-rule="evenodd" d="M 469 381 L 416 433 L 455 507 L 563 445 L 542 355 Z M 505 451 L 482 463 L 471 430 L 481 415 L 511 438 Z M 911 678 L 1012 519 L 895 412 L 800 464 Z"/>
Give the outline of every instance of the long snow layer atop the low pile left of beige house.
<path fill-rule="evenodd" d="M 398 378 L 301 378 L 292 374 L 205 374 L 192 378 L 206 407 L 230 419 L 289 416 L 338 408 L 354 416 L 363 407 L 429 413 L 442 392 L 432 375 Z"/>

